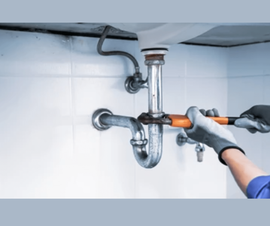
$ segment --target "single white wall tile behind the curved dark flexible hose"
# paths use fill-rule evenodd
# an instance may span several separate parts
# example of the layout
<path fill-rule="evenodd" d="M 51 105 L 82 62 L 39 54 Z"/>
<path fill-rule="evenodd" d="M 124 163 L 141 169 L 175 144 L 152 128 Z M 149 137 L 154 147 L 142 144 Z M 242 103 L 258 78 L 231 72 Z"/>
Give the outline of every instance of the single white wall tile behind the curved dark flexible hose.
<path fill-rule="evenodd" d="M 97 52 L 98 38 L 71 37 L 72 75 L 125 77 L 134 73 L 130 59 L 115 55 L 102 56 Z M 135 55 L 135 42 L 105 39 L 103 51 L 125 51 Z"/>

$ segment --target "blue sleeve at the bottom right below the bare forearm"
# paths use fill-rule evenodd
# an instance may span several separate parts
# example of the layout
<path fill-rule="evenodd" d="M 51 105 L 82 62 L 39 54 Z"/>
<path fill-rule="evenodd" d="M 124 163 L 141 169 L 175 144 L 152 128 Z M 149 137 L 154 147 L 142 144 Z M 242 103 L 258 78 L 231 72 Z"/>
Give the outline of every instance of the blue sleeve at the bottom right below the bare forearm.
<path fill-rule="evenodd" d="M 248 198 L 270 198 L 270 176 L 259 176 L 249 182 L 246 193 Z"/>

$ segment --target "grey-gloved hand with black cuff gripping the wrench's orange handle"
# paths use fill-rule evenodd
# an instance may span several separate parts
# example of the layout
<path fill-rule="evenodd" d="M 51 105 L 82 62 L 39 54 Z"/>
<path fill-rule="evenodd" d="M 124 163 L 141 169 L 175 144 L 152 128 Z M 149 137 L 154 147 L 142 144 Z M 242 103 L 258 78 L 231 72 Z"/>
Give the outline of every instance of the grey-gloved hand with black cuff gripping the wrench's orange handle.
<path fill-rule="evenodd" d="M 244 151 L 237 146 L 236 140 L 229 130 L 225 129 L 211 118 L 205 117 L 201 112 L 208 116 L 219 116 L 216 109 L 205 112 L 205 110 L 200 111 L 197 107 L 190 107 L 186 112 L 186 116 L 188 116 L 191 121 L 192 128 L 184 129 L 189 138 L 204 143 L 209 147 L 213 147 L 218 154 L 219 161 L 224 165 L 227 164 L 221 158 L 223 151 L 229 148 L 235 148 L 244 153 Z"/>

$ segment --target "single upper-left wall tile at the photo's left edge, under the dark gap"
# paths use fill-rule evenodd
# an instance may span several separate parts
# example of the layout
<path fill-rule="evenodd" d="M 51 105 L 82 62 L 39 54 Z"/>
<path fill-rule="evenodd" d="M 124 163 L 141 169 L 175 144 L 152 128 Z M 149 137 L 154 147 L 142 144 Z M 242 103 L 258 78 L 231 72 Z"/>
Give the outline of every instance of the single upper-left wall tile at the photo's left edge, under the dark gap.
<path fill-rule="evenodd" d="M 6 30 L 0 36 L 1 76 L 71 75 L 68 36 Z"/>

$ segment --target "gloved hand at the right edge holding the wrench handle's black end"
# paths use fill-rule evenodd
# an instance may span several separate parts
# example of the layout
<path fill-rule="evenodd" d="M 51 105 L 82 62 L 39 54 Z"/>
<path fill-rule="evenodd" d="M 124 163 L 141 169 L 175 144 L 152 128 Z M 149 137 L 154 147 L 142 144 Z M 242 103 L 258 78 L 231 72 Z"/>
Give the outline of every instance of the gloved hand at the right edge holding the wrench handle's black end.
<path fill-rule="evenodd" d="M 236 127 L 246 128 L 250 133 L 270 132 L 270 106 L 256 105 L 243 112 L 234 122 Z"/>

